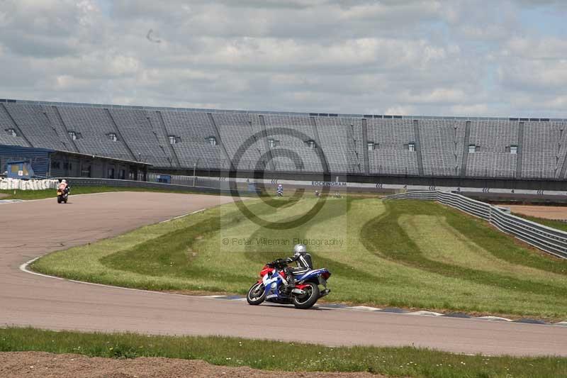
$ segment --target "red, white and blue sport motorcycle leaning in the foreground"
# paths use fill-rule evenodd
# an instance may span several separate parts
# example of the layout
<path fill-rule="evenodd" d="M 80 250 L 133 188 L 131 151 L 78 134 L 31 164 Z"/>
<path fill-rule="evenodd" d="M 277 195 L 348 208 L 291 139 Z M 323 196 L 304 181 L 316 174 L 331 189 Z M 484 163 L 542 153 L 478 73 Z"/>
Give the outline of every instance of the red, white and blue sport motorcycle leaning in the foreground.
<path fill-rule="evenodd" d="M 248 304 L 258 305 L 264 301 L 276 304 L 293 304 L 296 308 L 307 309 L 313 307 L 322 297 L 331 292 L 327 289 L 327 279 L 331 272 L 327 269 L 313 269 L 298 275 L 296 285 L 285 290 L 287 267 L 285 260 L 268 262 L 260 272 L 260 279 L 249 289 L 246 296 Z M 320 290 L 319 285 L 324 289 Z"/>

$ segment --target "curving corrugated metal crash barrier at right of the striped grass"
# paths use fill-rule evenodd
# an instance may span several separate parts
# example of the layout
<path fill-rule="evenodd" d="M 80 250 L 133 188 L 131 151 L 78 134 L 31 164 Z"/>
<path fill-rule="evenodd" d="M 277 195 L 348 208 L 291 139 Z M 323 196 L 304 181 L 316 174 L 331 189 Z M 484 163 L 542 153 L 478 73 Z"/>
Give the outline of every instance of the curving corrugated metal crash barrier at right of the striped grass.
<path fill-rule="evenodd" d="M 450 191 L 408 191 L 384 199 L 422 199 L 437 201 L 465 213 L 483 218 L 499 230 L 557 257 L 567 258 L 567 233 L 506 213 L 497 206 Z"/>

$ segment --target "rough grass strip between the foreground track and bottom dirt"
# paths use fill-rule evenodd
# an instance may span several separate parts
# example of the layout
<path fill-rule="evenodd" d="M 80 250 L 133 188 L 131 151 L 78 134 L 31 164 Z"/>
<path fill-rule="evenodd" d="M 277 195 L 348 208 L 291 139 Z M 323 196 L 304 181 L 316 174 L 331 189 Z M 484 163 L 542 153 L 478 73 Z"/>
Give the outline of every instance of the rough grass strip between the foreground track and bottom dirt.
<path fill-rule="evenodd" d="M 565 377 L 561 357 L 485 357 L 418 348 L 329 347 L 223 337 L 0 329 L 0 351 L 91 357 L 169 357 L 291 372 L 371 372 L 394 377 Z"/>

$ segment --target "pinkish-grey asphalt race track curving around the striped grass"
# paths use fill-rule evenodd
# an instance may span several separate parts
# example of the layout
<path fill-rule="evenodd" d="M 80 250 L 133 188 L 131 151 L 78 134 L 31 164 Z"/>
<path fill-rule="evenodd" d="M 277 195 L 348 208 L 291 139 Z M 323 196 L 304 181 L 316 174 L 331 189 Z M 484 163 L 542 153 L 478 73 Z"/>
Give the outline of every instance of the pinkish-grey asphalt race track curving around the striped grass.
<path fill-rule="evenodd" d="M 47 252 L 230 201 L 223 196 L 123 192 L 72 196 L 67 205 L 57 205 L 55 199 L 0 205 L 0 325 L 567 356 L 563 326 L 249 306 L 245 301 L 82 284 L 19 269 Z"/>

